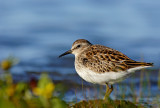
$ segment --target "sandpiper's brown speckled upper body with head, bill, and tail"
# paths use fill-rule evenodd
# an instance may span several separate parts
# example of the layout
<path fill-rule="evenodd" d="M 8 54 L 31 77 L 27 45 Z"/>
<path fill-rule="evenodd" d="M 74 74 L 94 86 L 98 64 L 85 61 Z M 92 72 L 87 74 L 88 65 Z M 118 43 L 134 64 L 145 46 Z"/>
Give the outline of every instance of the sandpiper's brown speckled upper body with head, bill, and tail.
<path fill-rule="evenodd" d="M 103 45 L 92 45 L 88 40 L 76 40 L 71 50 L 60 55 L 75 55 L 76 68 L 86 68 L 96 73 L 121 72 L 136 67 L 150 67 L 153 63 L 138 62 L 123 53 Z"/>

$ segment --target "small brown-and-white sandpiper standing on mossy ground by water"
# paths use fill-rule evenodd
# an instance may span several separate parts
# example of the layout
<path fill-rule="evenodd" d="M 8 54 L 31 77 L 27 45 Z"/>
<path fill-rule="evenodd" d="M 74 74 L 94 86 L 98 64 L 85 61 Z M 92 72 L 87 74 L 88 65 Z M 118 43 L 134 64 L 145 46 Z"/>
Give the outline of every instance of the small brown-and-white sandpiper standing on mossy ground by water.
<path fill-rule="evenodd" d="M 93 45 L 85 39 L 76 40 L 72 48 L 59 57 L 67 54 L 75 55 L 75 69 L 81 78 L 90 83 L 106 85 L 104 100 L 113 91 L 114 83 L 125 79 L 135 70 L 153 66 L 153 63 L 134 61 L 115 49 Z"/>

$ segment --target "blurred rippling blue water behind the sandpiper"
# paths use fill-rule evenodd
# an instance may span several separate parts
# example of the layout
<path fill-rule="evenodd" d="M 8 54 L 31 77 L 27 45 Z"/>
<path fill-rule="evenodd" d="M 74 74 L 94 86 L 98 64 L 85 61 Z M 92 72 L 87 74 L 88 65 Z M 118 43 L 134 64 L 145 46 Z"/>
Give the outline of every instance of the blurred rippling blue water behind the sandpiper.
<path fill-rule="evenodd" d="M 45 71 L 55 82 L 81 85 L 74 56 L 58 56 L 70 49 L 75 40 L 87 39 L 134 60 L 153 62 L 151 92 L 153 97 L 160 93 L 160 1 L 1 0 L 0 13 L 0 60 L 10 55 L 20 60 L 11 69 L 14 80 L 39 78 Z M 139 73 L 136 75 L 139 77 Z M 139 84 L 138 77 L 132 83 Z M 75 97 L 74 89 L 68 92 L 69 96 Z"/>

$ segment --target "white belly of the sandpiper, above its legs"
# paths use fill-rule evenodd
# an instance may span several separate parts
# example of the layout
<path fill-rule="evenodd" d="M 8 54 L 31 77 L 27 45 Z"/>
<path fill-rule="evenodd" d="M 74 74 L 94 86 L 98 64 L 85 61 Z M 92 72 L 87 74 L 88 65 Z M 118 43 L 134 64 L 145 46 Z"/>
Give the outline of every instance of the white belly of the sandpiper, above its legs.
<path fill-rule="evenodd" d="M 130 75 L 130 72 L 105 72 L 96 73 L 88 68 L 76 68 L 78 75 L 85 81 L 95 84 L 114 84 L 125 79 Z"/>

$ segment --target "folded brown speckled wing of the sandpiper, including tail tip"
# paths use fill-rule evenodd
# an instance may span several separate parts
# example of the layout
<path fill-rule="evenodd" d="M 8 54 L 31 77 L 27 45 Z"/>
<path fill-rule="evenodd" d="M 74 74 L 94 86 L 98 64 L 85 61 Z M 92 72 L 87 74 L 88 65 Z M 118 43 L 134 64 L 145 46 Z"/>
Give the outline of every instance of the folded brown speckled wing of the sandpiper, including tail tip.
<path fill-rule="evenodd" d="M 140 66 L 152 66 L 152 63 L 137 62 L 123 53 L 102 45 L 92 45 L 83 52 L 82 63 L 89 69 L 98 72 L 126 71 Z"/>

